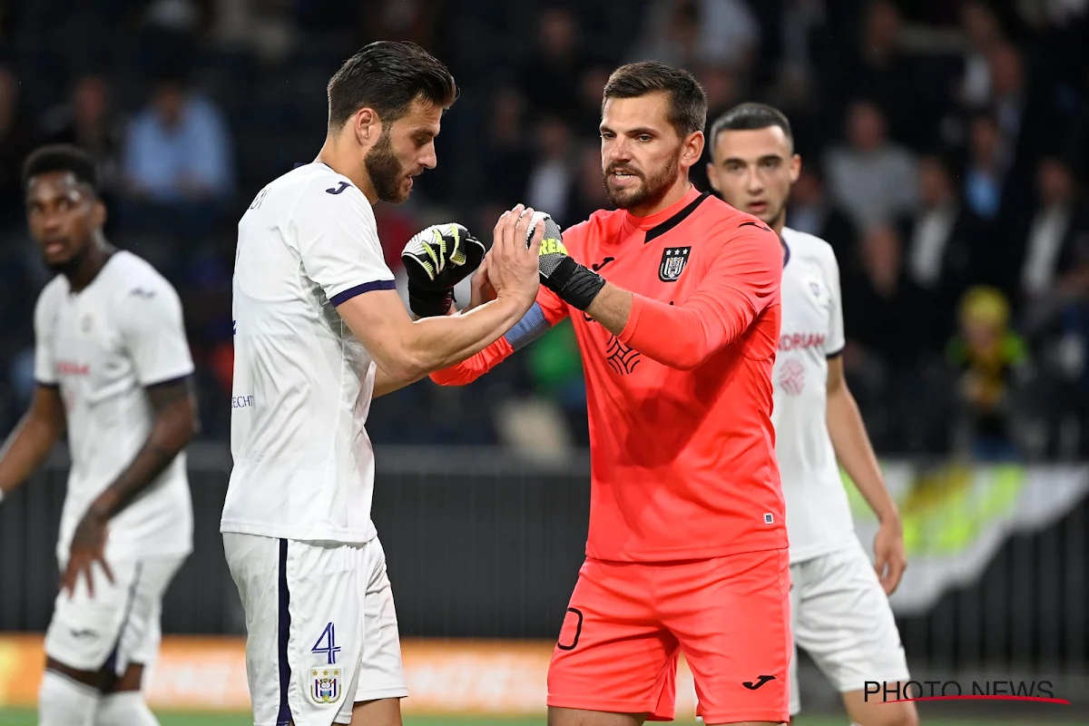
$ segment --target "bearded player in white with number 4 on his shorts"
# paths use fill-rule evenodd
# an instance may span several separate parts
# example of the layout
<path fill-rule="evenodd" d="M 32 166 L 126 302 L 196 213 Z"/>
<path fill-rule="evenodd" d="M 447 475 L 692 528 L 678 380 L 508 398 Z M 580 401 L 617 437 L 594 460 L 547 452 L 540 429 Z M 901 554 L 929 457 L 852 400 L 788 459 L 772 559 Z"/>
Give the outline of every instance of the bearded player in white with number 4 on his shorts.
<path fill-rule="evenodd" d="M 543 225 L 527 249 L 531 214 L 519 206 L 488 253 L 495 300 L 414 320 L 371 205 L 404 201 L 436 165 L 454 79 L 419 47 L 379 41 L 341 66 L 328 95 L 317 159 L 268 184 L 238 222 L 221 530 L 246 613 L 256 726 L 401 724 L 396 614 L 370 520 L 370 401 L 498 340 L 540 282 Z"/>

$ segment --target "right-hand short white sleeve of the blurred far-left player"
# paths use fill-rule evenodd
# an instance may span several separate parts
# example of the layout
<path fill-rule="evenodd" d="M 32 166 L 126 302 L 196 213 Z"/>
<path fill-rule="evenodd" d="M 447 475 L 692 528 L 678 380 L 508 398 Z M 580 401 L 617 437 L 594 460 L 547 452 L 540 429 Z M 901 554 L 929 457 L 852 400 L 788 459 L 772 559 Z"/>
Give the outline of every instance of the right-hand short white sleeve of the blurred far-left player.
<path fill-rule="evenodd" d="M 144 387 L 193 373 L 182 302 L 166 280 L 133 285 L 122 300 L 121 335 Z"/>

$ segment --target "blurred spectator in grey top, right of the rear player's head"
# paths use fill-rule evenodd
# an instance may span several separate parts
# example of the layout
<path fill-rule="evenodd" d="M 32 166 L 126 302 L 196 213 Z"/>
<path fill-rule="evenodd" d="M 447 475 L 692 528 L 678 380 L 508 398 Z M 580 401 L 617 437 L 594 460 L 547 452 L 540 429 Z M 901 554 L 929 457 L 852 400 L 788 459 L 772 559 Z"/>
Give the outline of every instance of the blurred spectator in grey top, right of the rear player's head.
<path fill-rule="evenodd" d="M 889 140 L 881 110 L 871 101 L 851 104 L 846 146 L 828 152 L 832 197 L 859 227 L 891 222 L 915 210 L 918 198 L 915 159 Z"/>

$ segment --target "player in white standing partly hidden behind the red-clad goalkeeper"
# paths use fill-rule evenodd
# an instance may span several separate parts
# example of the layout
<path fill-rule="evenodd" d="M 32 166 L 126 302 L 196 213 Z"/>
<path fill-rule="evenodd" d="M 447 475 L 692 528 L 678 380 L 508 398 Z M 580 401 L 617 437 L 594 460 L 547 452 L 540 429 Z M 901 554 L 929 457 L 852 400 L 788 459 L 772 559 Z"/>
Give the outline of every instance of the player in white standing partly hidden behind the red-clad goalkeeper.
<path fill-rule="evenodd" d="M 726 111 L 709 135 L 711 186 L 783 242 L 783 322 L 774 369 L 775 455 L 791 541 L 792 620 L 860 726 L 914 726 L 915 704 L 866 702 L 867 680 L 908 679 L 888 595 L 906 567 L 900 513 L 843 376 L 840 269 L 832 247 L 785 226 L 802 159 L 791 124 L 761 103 Z M 881 522 L 871 563 L 855 534 L 842 465 Z M 791 714 L 800 709 L 797 659 Z"/>

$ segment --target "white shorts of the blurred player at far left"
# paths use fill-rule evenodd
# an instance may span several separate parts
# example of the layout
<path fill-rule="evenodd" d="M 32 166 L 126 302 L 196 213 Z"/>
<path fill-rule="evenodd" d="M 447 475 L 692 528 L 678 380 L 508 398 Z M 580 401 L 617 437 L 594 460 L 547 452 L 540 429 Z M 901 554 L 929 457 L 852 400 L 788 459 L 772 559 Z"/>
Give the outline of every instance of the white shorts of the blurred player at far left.
<path fill-rule="evenodd" d="M 70 668 L 121 675 L 130 664 L 150 666 L 162 639 L 162 595 L 186 555 L 109 559 L 113 582 L 94 566 L 95 596 L 79 578 L 70 599 L 57 595 L 46 630 L 46 654 Z M 66 563 L 60 563 L 64 571 Z"/>

